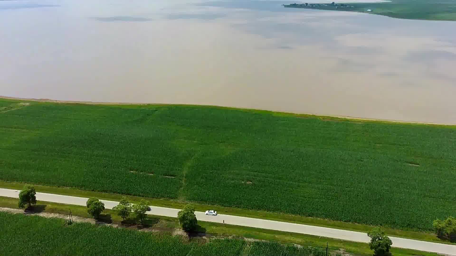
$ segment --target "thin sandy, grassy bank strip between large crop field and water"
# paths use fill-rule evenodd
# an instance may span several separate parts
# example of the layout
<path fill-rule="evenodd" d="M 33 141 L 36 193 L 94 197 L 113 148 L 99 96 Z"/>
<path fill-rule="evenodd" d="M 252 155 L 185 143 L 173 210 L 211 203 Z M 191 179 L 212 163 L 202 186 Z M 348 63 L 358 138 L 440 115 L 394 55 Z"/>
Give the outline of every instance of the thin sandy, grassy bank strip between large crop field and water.
<path fill-rule="evenodd" d="M 444 125 L 444 126 L 455 126 L 456 124 L 452 123 L 431 123 L 431 122 L 414 122 L 414 121 L 403 121 L 403 120 L 394 120 L 394 119 L 376 119 L 376 118 L 358 118 L 351 116 L 337 116 L 337 115 L 318 115 L 318 114 L 306 114 L 306 113 L 292 113 L 292 112 L 281 112 L 274 110 L 265 110 L 265 109 L 253 109 L 253 108 L 239 108 L 239 107 L 226 107 L 226 106 L 217 106 L 217 105 L 194 105 L 194 104 L 168 104 L 168 103 L 154 103 L 154 102 L 92 102 L 92 101 L 63 101 L 63 100 L 53 100 L 53 99 L 43 99 L 43 98 L 20 98 L 20 97 L 8 97 L 0 96 L 0 99 L 9 99 L 9 100 L 24 100 L 24 101 L 34 101 L 34 102 L 51 102 L 51 103 L 73 103 L 73 104 L 87 104 L 87 105 L 188 105 L 188 106 L 206 106 L 206 107 L 219 107 L 219 108 L 233 108 L 233 109 L 243 109 L 243 110 L 259 110 L 259 111 L 270 111 L 276 113 L 286 113 L 294 115 L 305 115 L 305 116 L 315 116 L 320 118 L 341 118 L 349 120 L 358 120 L 358 121 L 377 121 L 385 123 L 409 123 L 409 124 L 427 124 L 427 125 Z"/>

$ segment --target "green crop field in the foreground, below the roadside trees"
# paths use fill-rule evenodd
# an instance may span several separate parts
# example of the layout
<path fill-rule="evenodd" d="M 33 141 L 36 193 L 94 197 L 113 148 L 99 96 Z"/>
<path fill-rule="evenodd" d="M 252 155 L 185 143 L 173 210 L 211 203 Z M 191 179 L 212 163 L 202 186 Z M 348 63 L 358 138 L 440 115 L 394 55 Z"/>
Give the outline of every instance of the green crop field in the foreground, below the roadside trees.
<path fill-rule="evenodd" d="M 271 242 L 213 239 L 188 242 L 182 236 L 140 232 L 89 223 L 0 212 L 0 255 L 282 255 L 323 256 L 321 249 Z M 274 254 L 270 254 L 274 253 Z"/>

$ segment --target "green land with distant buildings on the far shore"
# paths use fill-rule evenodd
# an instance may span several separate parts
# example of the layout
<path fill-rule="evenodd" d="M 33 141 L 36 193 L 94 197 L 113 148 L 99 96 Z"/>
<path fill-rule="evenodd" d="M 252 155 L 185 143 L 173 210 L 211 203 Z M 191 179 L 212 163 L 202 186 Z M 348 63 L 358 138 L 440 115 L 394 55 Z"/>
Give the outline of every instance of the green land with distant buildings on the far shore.
<path fill-rule="evenodd" d="M 287 8 L 355 11 L 409 20 L 456 20 L 456 0 L 391 0 L 377 3 L 302 2 Z"/>

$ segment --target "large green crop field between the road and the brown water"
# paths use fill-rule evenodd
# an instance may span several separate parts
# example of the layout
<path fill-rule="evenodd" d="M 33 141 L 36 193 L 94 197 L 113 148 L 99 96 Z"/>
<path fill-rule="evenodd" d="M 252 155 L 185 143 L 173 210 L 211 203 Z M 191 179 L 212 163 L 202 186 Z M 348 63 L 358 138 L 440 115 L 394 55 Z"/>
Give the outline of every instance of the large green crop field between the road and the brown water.
<path fill-rule="evenodd" d="M 456 214 L 456 128 L 0 100 L 0 179 L 407 230 Z M 16 108 L 20 106 L 21 108 Z"/>

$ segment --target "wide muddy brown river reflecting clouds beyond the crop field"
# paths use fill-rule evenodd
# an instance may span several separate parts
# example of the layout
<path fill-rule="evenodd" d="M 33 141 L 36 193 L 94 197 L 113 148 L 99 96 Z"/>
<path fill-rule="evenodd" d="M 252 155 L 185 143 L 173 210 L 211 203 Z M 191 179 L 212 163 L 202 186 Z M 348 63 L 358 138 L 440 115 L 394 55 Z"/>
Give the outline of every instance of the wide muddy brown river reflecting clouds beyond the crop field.
<path fill-rule="evenodd" d="M 259 0 L 0 0 L 0 95 L 456 124 L 456 22 Z"/>

